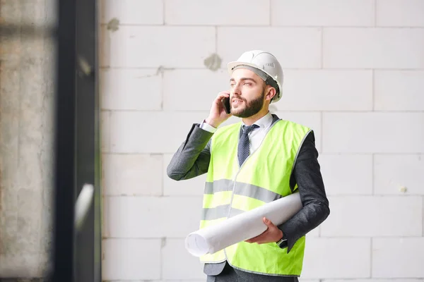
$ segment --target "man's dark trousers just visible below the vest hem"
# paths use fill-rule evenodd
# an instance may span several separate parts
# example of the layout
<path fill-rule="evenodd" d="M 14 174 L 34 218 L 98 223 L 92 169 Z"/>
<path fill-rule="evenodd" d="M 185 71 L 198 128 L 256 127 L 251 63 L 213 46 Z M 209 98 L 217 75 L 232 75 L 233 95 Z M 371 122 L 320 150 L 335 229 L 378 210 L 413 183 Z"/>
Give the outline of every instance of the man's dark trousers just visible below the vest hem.
<path fill-rule="evenodd" d="M 282 277 L 251 274 L 238 269 L 233 269 L 225 264 L 223 271 L 217 276 L 208 276 L 207 282 L 298 282 L 297 277 Z"/>

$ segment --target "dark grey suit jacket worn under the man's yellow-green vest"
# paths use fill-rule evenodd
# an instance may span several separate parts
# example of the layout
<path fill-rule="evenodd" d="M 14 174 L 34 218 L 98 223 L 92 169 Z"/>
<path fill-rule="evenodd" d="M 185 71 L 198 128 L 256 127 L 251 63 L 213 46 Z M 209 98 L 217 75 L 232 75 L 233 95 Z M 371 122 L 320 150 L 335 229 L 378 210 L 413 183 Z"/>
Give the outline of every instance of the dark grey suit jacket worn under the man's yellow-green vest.
<path fill-rule="evenodd" d="M 273 123 L 278 119 L 278 116 L 273 115 Z M 192 125 L 186 140 L 167 166 L 167 176 L 174 180 L 184 180 L 207 173 L 211 159 L 209 148 L 212 135 L 213 133 L 201 129 L 198 123 Z M 290 220 L 278 226 L 287 238 L 287 252 L 290 252 L 296 240 L 319 226 L 330 213 L 317 158 L 314 132 L 311 131 L 300 148 L 290 177 L 291 188 L 298 184 L 303 208 Z M 224 266 L 225 262 L 206 264 L 204 272 L 217 275 Z"/>

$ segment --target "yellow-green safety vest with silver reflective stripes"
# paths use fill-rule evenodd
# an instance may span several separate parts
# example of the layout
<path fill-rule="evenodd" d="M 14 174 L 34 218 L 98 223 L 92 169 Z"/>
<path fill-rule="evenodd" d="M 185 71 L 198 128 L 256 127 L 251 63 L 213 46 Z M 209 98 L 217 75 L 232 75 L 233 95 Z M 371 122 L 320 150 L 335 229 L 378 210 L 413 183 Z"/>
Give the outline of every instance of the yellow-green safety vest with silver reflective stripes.
<path fill-rule="evenodd" d="M 290 175 L 310 128 L 278 120 L 259 148 L 240 167 L 237 144 L 241 123 L 218 128 L 211 139 L 200 228 L 211 226 L 263 204 L 292 194 Z M 283 211 L 282 211 L 283 212 Z M 273 276 L 300 276 L 305 236 L 288 253 L 276 243 L 241 242 L 200 257 L 203 263 L 228 261 L 237 269 Z"/>

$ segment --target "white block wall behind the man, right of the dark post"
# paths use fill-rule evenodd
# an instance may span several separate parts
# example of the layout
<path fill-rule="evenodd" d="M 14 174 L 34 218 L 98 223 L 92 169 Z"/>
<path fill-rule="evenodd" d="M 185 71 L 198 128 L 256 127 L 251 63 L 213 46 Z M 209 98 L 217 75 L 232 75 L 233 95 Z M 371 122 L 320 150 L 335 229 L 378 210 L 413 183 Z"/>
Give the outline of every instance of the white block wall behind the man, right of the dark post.
<path fill-rule="evenodd" d="M 101 4 L 105 281 L 206 280 L 184 250 L 206 175 L 166 167 L 227 89 L 225 64 L 266 49 L 285 71 L 271 111 L 314 130 L 331 206 L 300 281 L 424 282 L 423 0 Z"/>

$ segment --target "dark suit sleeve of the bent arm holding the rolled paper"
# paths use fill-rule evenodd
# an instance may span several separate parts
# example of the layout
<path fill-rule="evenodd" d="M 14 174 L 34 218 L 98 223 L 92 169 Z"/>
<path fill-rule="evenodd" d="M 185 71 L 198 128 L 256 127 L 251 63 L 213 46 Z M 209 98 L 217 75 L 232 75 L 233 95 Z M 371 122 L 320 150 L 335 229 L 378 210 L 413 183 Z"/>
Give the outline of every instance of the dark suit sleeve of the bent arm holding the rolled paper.
<path fill-rule="evenodd" d="M 298 184 L 303 207 L 291 219 L 278 226 L 283 231 L 283 238 L 287 239 L 287 252 L 290 252 L 299 238 L 319 226 L 330 214 L 313 131 L 305 138 L 294 166 L 290 187 Z"/>

